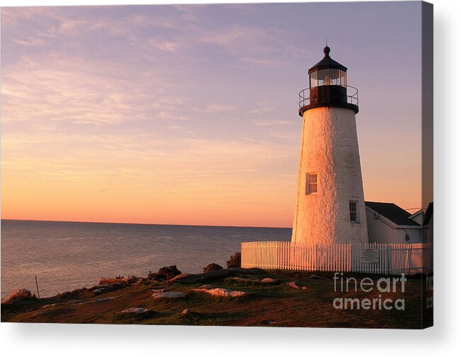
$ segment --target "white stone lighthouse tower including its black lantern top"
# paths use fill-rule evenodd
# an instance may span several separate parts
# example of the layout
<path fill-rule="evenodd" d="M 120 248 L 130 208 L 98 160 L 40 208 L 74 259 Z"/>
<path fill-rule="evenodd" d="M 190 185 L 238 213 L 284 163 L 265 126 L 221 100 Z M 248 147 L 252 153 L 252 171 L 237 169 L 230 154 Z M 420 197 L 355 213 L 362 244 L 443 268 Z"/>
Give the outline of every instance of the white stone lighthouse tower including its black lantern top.
<path fill-rule="evenodd" d="M 346 71 L 326 46 L 324 58 L 309 69 L 309 88 L 300 92 L 294 243 L 368 242 L 355 125 L 358 91 L 347 85 Z"/>

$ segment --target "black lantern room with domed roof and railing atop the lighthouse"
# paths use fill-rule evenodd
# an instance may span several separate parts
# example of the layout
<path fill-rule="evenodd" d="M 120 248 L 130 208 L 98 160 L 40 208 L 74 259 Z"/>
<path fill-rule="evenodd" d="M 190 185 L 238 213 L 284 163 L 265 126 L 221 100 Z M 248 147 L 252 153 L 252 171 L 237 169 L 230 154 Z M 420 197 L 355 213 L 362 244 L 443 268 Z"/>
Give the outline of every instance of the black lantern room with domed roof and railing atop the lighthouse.
<path fill-rule="evenodd" d="M 326 46 L 324 58 L 309 69 L 309 88 L 300 91 L 300 116 L 314 107 L 346 107 L 358 113 L 358 90 L 347 85 L 348 69 L 330 51 Z"/>

